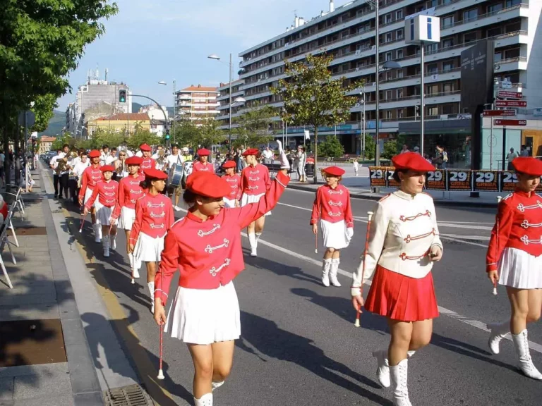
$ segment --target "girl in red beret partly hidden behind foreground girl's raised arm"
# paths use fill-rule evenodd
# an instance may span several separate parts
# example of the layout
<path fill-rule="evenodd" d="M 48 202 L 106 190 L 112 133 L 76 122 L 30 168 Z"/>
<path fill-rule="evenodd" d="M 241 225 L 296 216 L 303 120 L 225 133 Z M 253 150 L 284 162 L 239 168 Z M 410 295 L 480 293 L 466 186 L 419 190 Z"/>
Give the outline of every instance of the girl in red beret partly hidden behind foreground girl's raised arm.
<path fill-rule="evenodd" d="M 256 148 L 247 149 L 243 152 L 246 159 L 246 167 L 241 172 L 241 206 L 259 202 L 265 192 L 271 187 L 271 178 L 267 166 L 258 164 L 258 155 L 260 152 Z M 258 252 L 258 240 L 263 233 L 265 226 L 265 216 L 270 216 L 271 211 L 267 211 L 260 219 L 255 219 L 248 224 L 246 233 L 248 242 L 251 244 L 251 257 L 256 257 Z"/>

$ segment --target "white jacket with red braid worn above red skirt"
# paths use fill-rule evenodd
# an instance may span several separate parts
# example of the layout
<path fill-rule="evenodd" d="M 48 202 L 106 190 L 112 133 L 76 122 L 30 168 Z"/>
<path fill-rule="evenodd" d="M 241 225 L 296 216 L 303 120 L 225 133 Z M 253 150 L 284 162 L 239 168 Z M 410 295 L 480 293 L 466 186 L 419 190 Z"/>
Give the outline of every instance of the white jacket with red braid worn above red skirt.
<path fill-rule="evenodd" d="M 361 257 L 352 275 L 351 295 L 359 295 L 365 265 L 365 279 L 371 278 L 377 264 L 410 278 L 423 278 L 433 262 L 428 254 L 433 245 L 442 248 L 438 236 L 433 198 L 426 193 L 414 197 L 397 190 L 376 204 L 366 258 Z"/>

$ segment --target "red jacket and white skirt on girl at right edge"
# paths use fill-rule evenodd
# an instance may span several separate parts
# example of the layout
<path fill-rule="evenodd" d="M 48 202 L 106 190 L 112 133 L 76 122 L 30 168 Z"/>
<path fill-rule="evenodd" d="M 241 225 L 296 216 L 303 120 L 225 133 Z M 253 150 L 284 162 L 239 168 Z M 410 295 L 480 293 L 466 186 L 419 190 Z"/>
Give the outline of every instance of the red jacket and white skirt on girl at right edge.
<path fill-rule="evenodd" d="M 542 288 L 542 197 L 516 190 L 499 204 L 486 270 L 499 271 L 500 285 Z"/>

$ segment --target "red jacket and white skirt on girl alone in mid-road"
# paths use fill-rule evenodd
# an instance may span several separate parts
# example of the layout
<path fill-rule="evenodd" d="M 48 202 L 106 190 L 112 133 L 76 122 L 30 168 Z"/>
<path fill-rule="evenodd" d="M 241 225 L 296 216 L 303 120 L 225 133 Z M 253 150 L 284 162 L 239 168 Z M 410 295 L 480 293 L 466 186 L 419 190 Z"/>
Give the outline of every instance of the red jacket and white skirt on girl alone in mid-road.
<path fill-rule="evenodd" d="M 354 217 L 347 187 L 341 184 L 338 184 L 335 189 L 328 185 L 318 187 L 313 203 L 311 225 L 318 223 L 318 219 L 320 219 L 324 247 L 335 248 L 335 250 L 348 247 L 351 235 L 354 233 Z"/>

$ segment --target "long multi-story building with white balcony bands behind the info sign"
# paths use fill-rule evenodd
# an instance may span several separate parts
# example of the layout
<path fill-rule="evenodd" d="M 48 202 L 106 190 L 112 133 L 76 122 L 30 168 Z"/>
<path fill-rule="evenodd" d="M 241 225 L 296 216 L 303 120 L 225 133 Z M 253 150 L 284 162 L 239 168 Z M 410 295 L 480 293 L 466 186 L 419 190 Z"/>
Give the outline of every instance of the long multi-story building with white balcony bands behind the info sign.
<path fill-rule="evenodd" d="M 410 123 L 411 131 L 419 134 L 419 125 L 413 122 L 419 121 L 420 47 L 404 42 L 404 19 L 427 9 L 440 17 L 441 30 L 440 43 L 425 49 L 424 109 L 428 121 L 446 120 L 447 124 L 426 126 L 426 151 L 435 143 L 442 143 L 443 137 L 449 149 L 457 149 L 458 154 L 468 148 L 464 144 L 469 141 L 470 129 L 468 133 L 464 130 L 469 128 L 465 125 L 469 120 L 454 120 L 468 117 L 462 115 L 460 55 L 483 39 L 492 39 L 495 44 L 495 79 L 511 82 L 514 89 L 522 90 L 529 108 L 542 107 L 542 1 L 380 0 L 379 65 L 385 61 L 397 61 L 400 65 L 394 70 L 380 68 L 381 139 L 403 134 L 402 123 Z M 244 84 L 237 90 L 244 92 L 246 107 L 256 103 L 282 106 L 271 87 L 285 78 L 284 60 L 301 61 L 308 53 L 332 54 L 335 58 L 330 69 L 334 78 L 344 77 L 347 84 L 365 82 L 364 87 L 352 92 L 363 92 L 364 103 L 351 109 L 351 122 L 337 125 L 331 132 L 328 129 L 327 133 L 336 131 L 347 152 L 359 153 L 363 110 L 366 131 L 375 132 L 375 24 L 375 11 L 366 0 L 349 1 L 337 8 L 330 1 L 329 11 L 307 21 L 296 17 L 286 32 L 242 51 L 239 66 L 243 69 L 240 78 Z M 220 109 L 224 111 L 222 106 Z M 226 118 L 226 114 L 219 116 L 222 123 Z M 277 118 L 277 127 L 279 122 Z M 302 129 L 291 131 L 293 135 L 303 135 Z"/>

